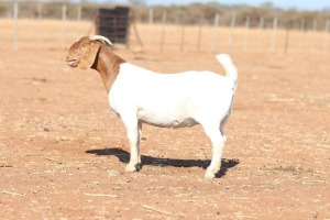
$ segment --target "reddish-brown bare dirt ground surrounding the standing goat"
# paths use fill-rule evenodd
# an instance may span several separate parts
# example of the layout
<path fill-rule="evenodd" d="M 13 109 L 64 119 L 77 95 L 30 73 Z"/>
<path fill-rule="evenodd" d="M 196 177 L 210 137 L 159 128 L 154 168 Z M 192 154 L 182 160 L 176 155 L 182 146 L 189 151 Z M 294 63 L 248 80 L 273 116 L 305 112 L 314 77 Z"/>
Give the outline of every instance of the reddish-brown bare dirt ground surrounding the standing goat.
<path fill-rule="evenodd" d="M 223 73 L 211 52 L 116 53 Z M 231 53 L 239 85 L 216 179 L 200 127 L 144 125 L 143 167 L 124 173 L 125 130 L 100 76 L 65 56 L 0 48 L 0 219 L 330 219 L 330 54 Z"/>

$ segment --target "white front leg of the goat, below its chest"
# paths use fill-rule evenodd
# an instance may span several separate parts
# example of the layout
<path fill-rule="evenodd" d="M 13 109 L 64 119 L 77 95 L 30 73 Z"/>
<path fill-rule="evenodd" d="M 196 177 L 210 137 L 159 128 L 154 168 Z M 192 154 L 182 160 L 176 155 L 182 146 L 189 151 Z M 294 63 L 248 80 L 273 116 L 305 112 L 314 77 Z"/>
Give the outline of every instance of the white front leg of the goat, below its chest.
<path fill-rule="evenodd" d="M 130 163 L 125 167 L 125 172 L 135 172 L 140 169 L 140 136 L 141 136 L 141 123 L 125 123 L 129 144 L 131 148 Z"/>

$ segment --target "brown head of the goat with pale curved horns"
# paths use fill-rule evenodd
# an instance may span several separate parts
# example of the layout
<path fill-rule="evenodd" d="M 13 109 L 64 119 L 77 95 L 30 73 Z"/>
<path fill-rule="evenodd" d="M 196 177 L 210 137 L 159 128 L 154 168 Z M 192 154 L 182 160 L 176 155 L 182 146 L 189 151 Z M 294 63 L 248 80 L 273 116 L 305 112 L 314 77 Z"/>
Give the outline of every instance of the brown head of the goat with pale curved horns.
<path fill-rule="evenodd" d="M 66 57 L 66 64 L 70 67 L 79 67 L 80 69 L 88 69 L 95 63 L 101 44 L 112 45 L 112 43 L 105 36 L 92 35 L 84 36 L 74 43 Z"/>

